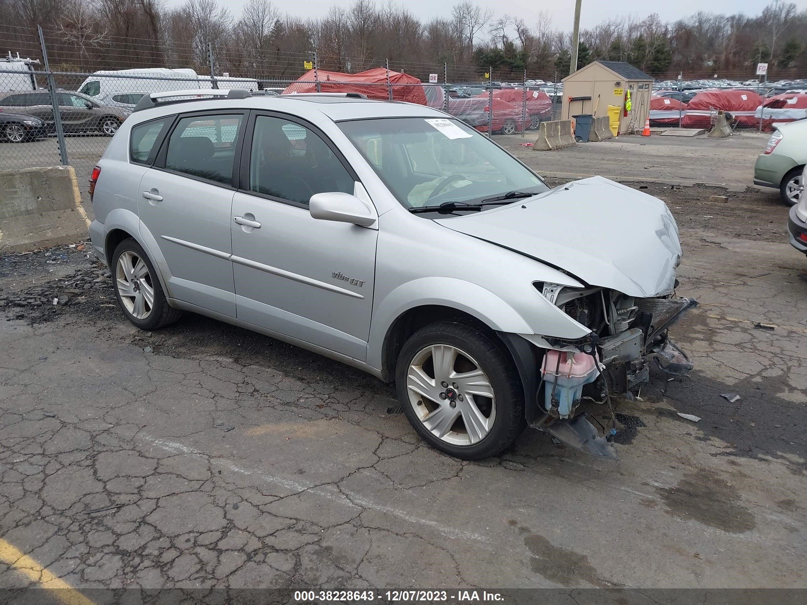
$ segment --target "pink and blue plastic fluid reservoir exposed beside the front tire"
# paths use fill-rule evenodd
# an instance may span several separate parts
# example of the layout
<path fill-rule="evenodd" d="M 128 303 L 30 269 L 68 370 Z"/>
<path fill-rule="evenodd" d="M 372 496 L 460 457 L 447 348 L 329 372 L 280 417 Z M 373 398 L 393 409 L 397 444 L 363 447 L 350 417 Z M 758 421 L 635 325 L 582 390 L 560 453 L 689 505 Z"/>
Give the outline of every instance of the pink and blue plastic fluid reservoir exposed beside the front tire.
<path fill-rule="evenodd" d="M 583 386 L 594 382 L 599 373 L 591 355 L 571 351 L 547 351 L 541 365 L 545 383 L 544 407 L 547 411 L 552 408 L 554 390 L 554 398 L 558 400 L 558 415 L 561 418 L 571 417 L 583 394 Z"/>

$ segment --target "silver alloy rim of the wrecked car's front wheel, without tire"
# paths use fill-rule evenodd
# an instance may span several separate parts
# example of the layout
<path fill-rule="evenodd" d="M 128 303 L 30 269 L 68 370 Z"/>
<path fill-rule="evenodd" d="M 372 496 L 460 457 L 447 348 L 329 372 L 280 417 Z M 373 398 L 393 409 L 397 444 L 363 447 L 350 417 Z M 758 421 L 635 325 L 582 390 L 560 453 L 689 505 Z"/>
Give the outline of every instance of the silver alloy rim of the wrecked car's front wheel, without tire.
<path fill-rule="evenodd" d="M 479 364 L 460 348 L 420 349 L 407 372 L 409 403 L 429 432 L 445 443 L 473 445 L 495 423 L 493 386 Z"/>

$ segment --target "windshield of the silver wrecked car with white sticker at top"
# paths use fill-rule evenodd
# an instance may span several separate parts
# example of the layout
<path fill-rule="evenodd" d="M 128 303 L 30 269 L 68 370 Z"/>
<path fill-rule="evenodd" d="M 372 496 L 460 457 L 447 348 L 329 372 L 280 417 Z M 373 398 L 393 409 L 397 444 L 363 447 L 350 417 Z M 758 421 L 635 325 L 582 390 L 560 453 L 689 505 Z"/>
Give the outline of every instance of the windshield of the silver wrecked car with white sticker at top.
<path fill-rule="evenodd" d="M 549 190 L 532 170 L 456 119 L 365 119 L 339 126 L 408 209 Z"/>

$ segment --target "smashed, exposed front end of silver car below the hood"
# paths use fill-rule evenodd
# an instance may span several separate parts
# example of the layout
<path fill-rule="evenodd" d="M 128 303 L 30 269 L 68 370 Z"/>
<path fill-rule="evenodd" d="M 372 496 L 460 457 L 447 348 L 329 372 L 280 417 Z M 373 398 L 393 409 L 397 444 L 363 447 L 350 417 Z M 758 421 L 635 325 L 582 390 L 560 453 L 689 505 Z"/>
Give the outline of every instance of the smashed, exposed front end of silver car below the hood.
<path fill-rule="evenodd" d="M 676 376 L 692 370 L 692 361 L 670 340 L 668 330 L 697 301 L 674 295 L 634 298 L 599 287 L 537 286 L 592 332 L 575 341 L 525 336 L 539 348 L 540 368 L 535 403 L 527 406 L 529 425 L 584 453 L 617 459 L 611 394 L 632 398 L 631 390 L 649 381 L 651 363 Z M 607 406 L 611 426 L 591 415 L 596 428 L 582 413 L 583 403 Z"/>

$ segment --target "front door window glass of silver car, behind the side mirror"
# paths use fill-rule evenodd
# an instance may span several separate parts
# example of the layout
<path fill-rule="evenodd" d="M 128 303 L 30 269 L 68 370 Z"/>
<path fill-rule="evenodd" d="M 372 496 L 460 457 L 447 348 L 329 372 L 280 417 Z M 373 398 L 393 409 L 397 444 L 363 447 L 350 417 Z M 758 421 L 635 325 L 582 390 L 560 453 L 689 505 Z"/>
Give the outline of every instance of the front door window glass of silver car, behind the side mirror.
<path fill-rule="evenodd" d="M 282 118 L 255 119 L 249 190 L 308 204 L 314 194 L 352 194 L 353 177 L 320 136 Z"/>

